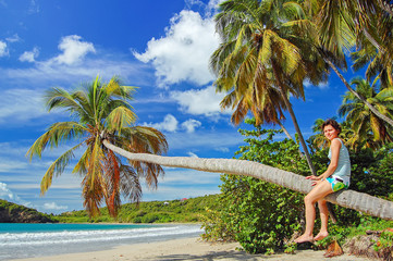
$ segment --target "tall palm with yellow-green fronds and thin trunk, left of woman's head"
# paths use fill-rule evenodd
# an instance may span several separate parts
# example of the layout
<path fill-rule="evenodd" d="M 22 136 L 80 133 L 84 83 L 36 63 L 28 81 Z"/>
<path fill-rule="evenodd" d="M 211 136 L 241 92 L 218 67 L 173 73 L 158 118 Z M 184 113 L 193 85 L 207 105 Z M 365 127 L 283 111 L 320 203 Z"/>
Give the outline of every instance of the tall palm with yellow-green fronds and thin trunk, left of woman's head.
<path fill-rule="evenodd" d="M 327 67 L 321 57 L 315 55 L 317 50 L 307 37 L 297 37 L 293 30 L 293 23 L 305 17 L 302 7 L 286 0 L 228 0 L 220 9 L 216 23 L 222 44 L 210 60 L 212 71 L 218 75 L 217 89 L 230 91 L 234 98 L 229 103 L 251 97 L 247 99 L 247 105 L 256 117 L 255 107 L 262 107 L 258 110 L 265 113 L 287 110 L 315 173 L 290 95 L 304 99 L 303 82 L 307 78 L 315 84 L 326 80 Z M 266 102 L 271 99 L 267 95 L 269 89 L 280 94 L 279 100 L 273 101 L 280 110 Z"/>

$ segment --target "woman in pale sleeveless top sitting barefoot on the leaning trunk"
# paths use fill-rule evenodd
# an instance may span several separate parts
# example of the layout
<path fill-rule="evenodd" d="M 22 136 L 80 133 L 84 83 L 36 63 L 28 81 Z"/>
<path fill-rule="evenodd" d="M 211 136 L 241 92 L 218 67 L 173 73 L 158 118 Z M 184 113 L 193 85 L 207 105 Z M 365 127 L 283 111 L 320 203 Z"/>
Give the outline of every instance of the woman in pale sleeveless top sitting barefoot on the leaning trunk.
<path fill-rule="evenodd" d="M 307 179 L 312 181 L 315 186 L 311 191 L 305 197 L 306 208 L 306 231 L 295 239 L 295 243 L 306 243 L 314 240 L 321 240 L 326 238 L 328 233 L 329 212 L 327 201 L 323 199 L 329 194 L 335 192 L 340 189 L 349 186 L 351 178 L 351 161 L 349 153 L 344 146 L 343 140 L 339 138 L 341 127 L 334 120 L 327 120 L 322 124 L 324 137 L 330 140 L 329 159 L 330 164 L 328 170 L 320 176 L 307 176 Z M 318 202 L 318 208 L 321 216 L 321 229 L 316 237 L 312 237 L 314 222 L 316 220 L 315 203 Z"/>

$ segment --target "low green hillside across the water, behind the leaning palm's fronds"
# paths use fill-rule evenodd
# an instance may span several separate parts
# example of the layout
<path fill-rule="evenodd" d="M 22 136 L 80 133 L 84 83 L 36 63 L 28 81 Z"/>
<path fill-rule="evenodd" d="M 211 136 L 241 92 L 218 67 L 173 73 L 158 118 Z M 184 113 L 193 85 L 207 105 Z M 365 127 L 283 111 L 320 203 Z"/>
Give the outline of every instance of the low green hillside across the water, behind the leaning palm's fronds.
<path fill-rule="evenodd" d="M 64 223 L 121 222 L 121 223 L 171 223 L 201 222 L 206 208 L 217 208 L 218 195 L 191 198 L 187 200 L 150 201 L 123 204 L 118 217 L 111 217 L 108 208 L 101 208 L 101 215 L 89 217 L 84 210 L 65 212 L 57 216 Z"/>

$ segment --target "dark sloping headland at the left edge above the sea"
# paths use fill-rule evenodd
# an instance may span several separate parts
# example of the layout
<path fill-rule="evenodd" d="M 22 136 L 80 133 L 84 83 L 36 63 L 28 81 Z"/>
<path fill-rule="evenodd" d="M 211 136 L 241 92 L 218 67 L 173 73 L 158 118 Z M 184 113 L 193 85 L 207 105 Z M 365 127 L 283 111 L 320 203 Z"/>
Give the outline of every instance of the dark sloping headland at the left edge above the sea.
<path fill-rule="evenodd" d="M 0 223 L 56 223 L 48 214 L 35 209 L 0 200 Z"/>

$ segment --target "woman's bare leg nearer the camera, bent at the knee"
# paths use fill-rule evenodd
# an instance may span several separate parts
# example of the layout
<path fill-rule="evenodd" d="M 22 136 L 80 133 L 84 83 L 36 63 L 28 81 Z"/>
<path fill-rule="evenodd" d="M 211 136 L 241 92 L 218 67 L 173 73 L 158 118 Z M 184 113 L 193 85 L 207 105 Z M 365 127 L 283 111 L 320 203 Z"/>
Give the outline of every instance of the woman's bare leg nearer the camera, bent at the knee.
<path fill-rule="evenodd" d="M 295 243 L 312 241 L 314 222 L 316 220 L 315 203 L 324 198 L 327 195 L 333 192 L 332 187 L 328 181 L 323 181 L 316 185 L 312 190 L 305 197 L 306 208 L 306 231 L 295 239 Z"/>

